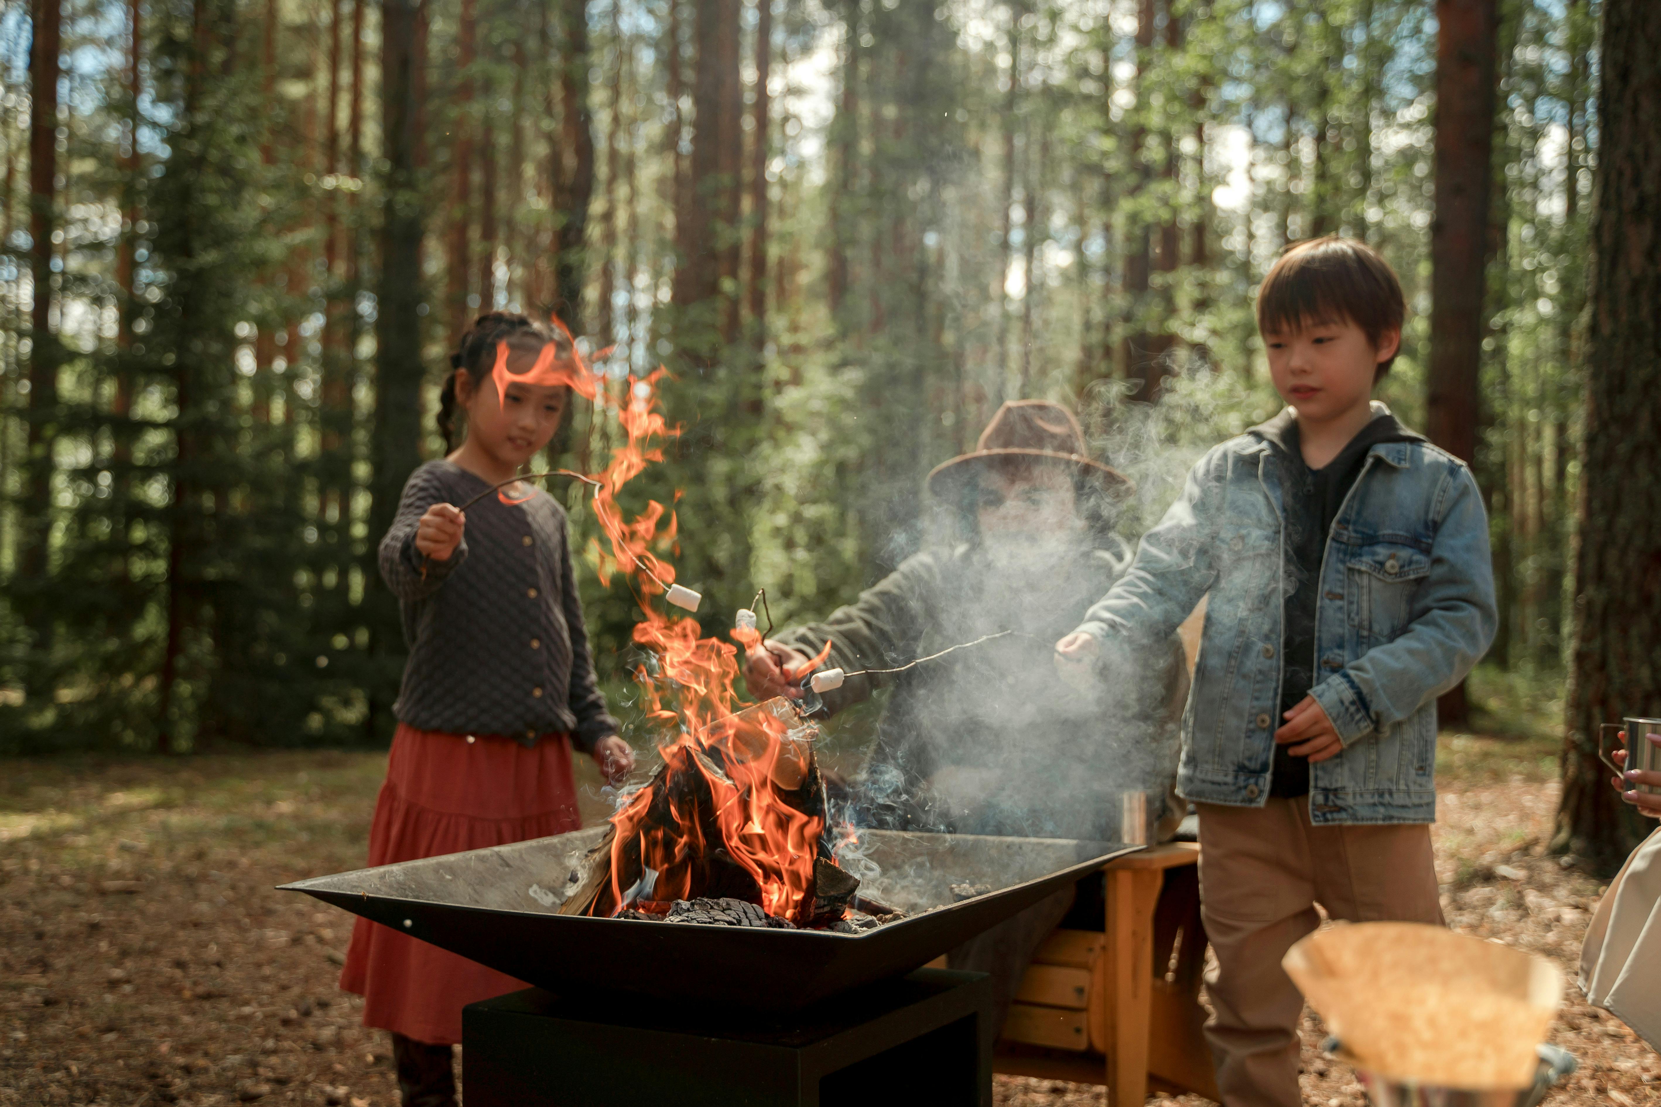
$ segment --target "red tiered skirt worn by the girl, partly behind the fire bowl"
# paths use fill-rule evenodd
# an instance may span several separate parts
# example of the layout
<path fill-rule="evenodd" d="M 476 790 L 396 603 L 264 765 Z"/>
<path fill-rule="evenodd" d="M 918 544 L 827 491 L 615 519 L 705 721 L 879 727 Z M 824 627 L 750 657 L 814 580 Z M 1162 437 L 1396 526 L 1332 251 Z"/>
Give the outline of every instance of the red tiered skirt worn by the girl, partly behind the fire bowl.
<path fill-rule="evenodd" d="M 468 742 L 400 724 L 369 828 L 369 863 L 482 850 L 581 825 L 566 735 L 543 735 L 527 749 L 498 735 Z M 462 1007 L 525 984 L 360 918 L 341 988 L 364 997 L 364 1026 L 453 1046 L 462 1041 Z"/>

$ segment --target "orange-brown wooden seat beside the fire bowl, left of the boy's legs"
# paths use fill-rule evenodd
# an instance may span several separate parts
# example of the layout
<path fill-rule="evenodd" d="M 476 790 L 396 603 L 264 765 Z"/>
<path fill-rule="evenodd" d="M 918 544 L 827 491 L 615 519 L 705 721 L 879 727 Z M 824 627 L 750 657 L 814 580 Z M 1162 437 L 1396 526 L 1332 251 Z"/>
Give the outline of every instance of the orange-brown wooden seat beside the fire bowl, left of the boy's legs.
<path fill-rule="evenodd" d="M 1198 861 L 1198 845 L 1173 841 L 1103 866 L 1103 931 L 1058 929 L 1038 949 L 1003 1024 L 995 1070 L 1105 1082 L 1113 1107 L 1139 1107 L 1149 1087 L 1218 1099 L 1201 1031 Z"/>

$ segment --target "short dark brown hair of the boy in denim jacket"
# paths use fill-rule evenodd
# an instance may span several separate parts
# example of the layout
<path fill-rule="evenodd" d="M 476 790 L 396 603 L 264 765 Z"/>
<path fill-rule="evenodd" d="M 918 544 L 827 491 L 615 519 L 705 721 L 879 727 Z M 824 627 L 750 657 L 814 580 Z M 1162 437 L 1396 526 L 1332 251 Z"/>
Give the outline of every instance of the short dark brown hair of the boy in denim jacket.
<path fill-rule="evenodd" d="M 1379 251 L 1329 234 L 1287 246 L 1257 289 L 1259 334 L 1297 332 L 1347 319 L 1375 349 L 1387 330 L 1400 334 L 1407 317 L 1402 282 Z M 1395 357 L 1379 362 L 1380 380 Z"/>

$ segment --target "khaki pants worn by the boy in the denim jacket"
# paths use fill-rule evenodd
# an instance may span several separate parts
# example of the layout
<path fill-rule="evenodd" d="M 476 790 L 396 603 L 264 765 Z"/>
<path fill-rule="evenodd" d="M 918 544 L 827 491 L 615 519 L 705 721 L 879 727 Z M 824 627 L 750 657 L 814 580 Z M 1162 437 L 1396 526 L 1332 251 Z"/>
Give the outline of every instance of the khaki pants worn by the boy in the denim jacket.
<path fill-rule="evenodd" d="M 1442 926 L 1430 827 L 1314 827 L 1307 797 L 1198 807 L 1218 1089 L 1227 1107 L 1299 1107 L 1304 997 L 1281 958 L 1320 924 L 1316 903 L 1352 923 Z"/>

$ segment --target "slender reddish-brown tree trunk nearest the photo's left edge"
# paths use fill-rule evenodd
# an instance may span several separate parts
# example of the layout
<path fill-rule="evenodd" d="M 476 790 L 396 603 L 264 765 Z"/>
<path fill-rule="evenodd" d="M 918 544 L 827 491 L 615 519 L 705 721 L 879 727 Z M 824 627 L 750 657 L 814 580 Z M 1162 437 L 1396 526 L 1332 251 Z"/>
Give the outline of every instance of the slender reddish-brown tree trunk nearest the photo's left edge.
<path fill-rule="evenodd" d="M 58 51 L 60 0 L 33 0 L 33 41 L 28 51 L 28 232 L 30 274 L 33 279 L 33 314 L 30 317 L 28 354 L 28 455 L 23 486 L 23 519 L 18 534 L 17 581 L 42 588 L 51 543 L 51 441 L 58 420 L 58 365 L 61 347 L 51 332 L 53 242 L 58 226 Z M 51 612 L 35 597 L 23 604 L 25 626 L 32 637 L 30 699 L 45 695 L 43 669 L 51 649 Z"/>

